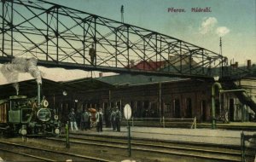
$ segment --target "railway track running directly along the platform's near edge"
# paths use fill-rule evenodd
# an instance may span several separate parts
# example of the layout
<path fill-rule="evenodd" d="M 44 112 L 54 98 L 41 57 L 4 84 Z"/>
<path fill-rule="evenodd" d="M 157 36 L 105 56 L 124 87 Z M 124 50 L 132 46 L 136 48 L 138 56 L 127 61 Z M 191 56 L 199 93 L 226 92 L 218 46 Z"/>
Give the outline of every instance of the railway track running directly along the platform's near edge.
<path fill-rule="evenodd" d="M 112 137 L 113 138 L 113 137 Z M 47 138 L 48 140 L 65 142 L 64 136 L 60 138 Z M 93 145 L 98 147 L 127 149 L 127 140 L 111 139 L 109 136 L 70 135 L 73 144 Z M 216 161 L 241 161 L 241 151 L 230 148 L 215 148 L 209 146 L 196 146 L 191 143 L 154 142 L 148 140 L 132 140 L 132 152 L 146 152 L 156 154 L 173 154 L 197 159 Z"/>

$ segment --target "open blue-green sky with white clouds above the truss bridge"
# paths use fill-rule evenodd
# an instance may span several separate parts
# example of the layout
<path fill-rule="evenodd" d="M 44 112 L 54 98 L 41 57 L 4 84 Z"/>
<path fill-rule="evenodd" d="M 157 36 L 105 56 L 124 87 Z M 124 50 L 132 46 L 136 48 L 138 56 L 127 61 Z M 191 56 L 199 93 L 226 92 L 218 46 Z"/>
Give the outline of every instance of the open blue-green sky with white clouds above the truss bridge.
<path fill-rule="evenodd" d="M 125 6 L 125 23 L 141 26 L 203 48 L 219 52 L 241 63 L 256 63 L 255 0 L 54 0 L 73 9 L 121 20 L 120 6 Z M 211 8 L 212 12 L 193 13 L 192 8 Z M 185 13 L 168 12 L 185 9 Z M 218 32 L 217 32 L 218 31 Z"/>

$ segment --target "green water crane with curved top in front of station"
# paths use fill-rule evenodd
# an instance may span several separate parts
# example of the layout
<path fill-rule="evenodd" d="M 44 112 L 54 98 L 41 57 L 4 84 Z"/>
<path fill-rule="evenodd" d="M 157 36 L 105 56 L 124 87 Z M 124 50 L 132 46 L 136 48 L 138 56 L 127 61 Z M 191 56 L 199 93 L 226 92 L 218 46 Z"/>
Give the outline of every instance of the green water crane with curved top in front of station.
<path fill-rule="evenodd" d="M 216 112 L 215 112 L 215 88 L 218 88 L 218 92 L 221 93 L 222 91 L 222 86 L 220 83 L 218 83 L 218 76 L 213 77 L 214 78 L 214 83 L 212 84 L 212 130 L 216 129 Z"/>

